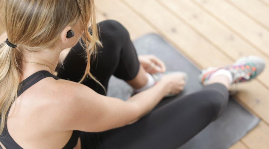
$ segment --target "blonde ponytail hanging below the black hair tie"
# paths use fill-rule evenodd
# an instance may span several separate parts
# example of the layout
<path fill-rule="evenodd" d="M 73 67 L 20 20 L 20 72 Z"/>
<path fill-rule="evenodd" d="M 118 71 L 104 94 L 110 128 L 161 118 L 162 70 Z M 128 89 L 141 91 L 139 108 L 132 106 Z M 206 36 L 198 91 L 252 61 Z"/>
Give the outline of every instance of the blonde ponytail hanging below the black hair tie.
<path fill-rule="evenodd" d="M 4 129 L 7 111 L 17 98 L 20 83 L 19 57 L 15 50 L 7 44 L 0 47 L 0 134 Z"/>

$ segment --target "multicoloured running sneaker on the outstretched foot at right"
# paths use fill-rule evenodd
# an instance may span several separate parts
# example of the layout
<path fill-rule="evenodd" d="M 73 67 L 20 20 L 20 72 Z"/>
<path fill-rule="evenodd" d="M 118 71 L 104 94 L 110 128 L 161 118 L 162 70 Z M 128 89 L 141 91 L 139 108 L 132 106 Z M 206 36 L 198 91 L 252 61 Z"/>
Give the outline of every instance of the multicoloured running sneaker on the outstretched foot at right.
<path fill-rule="evenodd" d="M 199 75 L 199 81 L 203 85 L 208 84 L 210 77 L 220 69 L 226 69 L 232 74 L 232 84 L 250 81 L 257 77 L 265 68 L 265 62 L 257 56 L 240 58 L 233 65 L 224 67 L 209 67 Z"/>

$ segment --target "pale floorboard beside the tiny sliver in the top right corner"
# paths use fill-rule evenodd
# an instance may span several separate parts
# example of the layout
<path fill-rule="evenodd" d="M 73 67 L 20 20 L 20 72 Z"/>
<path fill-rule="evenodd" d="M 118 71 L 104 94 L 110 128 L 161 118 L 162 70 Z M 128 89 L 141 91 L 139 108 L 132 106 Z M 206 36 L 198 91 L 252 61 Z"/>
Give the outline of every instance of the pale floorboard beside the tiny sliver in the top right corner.
<path fill-rule="evenodd" d="M 226 0 L 252 20 L 269 30 L 269 7 L 258 0 Z"/>

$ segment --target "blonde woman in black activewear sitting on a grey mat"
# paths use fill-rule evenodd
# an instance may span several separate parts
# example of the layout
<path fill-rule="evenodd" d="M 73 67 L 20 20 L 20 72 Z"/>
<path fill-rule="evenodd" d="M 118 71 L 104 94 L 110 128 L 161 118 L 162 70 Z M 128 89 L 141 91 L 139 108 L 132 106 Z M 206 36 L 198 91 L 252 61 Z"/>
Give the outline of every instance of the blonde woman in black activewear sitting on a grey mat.
<path fill-rule="evenodd" d="M 0 49 L 0 142 L 6 149 L 175 149 L 221 114 L 231 84 L 253 79 L 265 65 L 252 56 L 206 69 L 204 89 L 152 111 L 183 90 L 186 76 L 172 73 L 156 83 L 149 73 L 165 72 L 163 62 L 137 57 L 120 23 L 96 25 L 93 0 L 2 0 L 1 10 L 7 39 Z M 54 76 L 61 52 L 71 47 Z M 111 75 L 135 95 L 106 97 Z"/>

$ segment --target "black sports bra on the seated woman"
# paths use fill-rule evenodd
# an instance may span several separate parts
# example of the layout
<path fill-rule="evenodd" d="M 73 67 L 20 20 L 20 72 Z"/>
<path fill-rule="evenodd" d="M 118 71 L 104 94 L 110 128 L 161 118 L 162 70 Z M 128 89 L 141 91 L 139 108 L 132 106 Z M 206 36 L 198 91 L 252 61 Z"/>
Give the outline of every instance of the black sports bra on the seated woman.
<path fill-rule="evenodd" d="M 39 71 L 31 75 L 30 77 L 26 78 L 21 82 L 21 87 L 18 90 L 18 97 L 27 89 L 29 89 L 31 86 L 36 84 L 38 81 L 46 78 L 46 77 L 53 77 L 56 80 L 59 80 L 59 77 L 56 77 L 52 75 L 51 73 L 47 71 Z M 10 109 L 9 109 L 10 110 Z M 7 116 L 9 113 L 9 110 L 7 111 Z M 80 131 L 73 131 L 73 134 L 67 144 L 64 146 L 62 149 L 73 149 L 77 145 L 77 140 L 80 136 Z M 23 149 L 20 147 L 10 136 L 7 130 L 7 119 L 6 119 L 6 124 L 4 126 L 3 133 L 0 136 L 0 142 L 4 145 L 5 148 L 7 149 Z M 1 148 L 1 147 L 0 147 Z M 2 148 L 1 148 L 2 149 Z"/>

